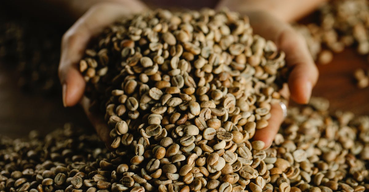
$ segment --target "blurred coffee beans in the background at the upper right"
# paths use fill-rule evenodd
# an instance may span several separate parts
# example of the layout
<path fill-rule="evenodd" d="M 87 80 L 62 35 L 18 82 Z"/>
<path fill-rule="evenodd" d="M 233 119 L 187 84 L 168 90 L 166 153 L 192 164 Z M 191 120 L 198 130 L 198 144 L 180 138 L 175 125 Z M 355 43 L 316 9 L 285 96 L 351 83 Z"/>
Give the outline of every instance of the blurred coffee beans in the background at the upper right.
<path fill-rule="evenodd" d="M 354 46 L 359 54 L 369 54 L 368 1 L 329 1 L 320 7 L 319 12 L 318 24 L 295 26 L 305 37 L 310 53 L 318 63 L 330 63 L 333 58 L 332 51 L 339 53 L 345 47 Z M 369 86 L 369 74 L 363 74 L 358 76 L 355 72 L 359 88 Z"/>

